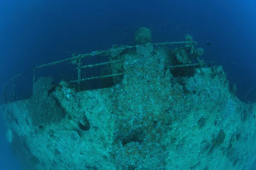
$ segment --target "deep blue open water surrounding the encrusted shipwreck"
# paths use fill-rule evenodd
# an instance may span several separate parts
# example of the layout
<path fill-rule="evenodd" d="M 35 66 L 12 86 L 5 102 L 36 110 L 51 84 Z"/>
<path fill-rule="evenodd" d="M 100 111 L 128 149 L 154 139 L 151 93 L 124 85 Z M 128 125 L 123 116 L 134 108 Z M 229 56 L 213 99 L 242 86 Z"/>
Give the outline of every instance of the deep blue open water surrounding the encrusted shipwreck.
<path fill-rule="evenodd" d="M 256 85 L 255 1 L 137 1 L 2 0 L 1 90 L 22 73 L 27 83 L 20 79 L 20 91 L 29 93 L 35 65 L 71 57 L 73 52 L 134 45 L 133 34 L 143 26 L 152 30 L 153 42 L 180 41 L 184 34 L 191 34 L 198 42 L 196 47 L 204 48 L 202 58 L 223 65 L 228 80 L 237 84 L 236 95 L 244 101 L 247 91 Z M 256 88 L 247 96 L 247 100 L 255 99 Z M 18 170 L 2 126 L 0 138 L 0 169 Z"/>

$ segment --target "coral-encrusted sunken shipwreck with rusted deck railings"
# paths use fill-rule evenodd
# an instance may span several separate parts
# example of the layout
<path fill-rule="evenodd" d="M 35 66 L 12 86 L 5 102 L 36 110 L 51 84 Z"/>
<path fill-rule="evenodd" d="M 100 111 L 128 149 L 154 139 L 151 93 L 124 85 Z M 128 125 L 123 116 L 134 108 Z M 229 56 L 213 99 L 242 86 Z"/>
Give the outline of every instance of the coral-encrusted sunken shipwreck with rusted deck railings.
<path fill-rule="evenodd" d="M 113 45 L 34 68 L 33 95 L 0 106 L 15 156 L 35 170 L 247 170 L 256 160 L 255 104 L 240 102 L 221 66 L 182 42 Z M 108 56 L 83 65 L 81 59 Z M 196 61 L 196 62 L 195 62 Z M 77 79 L 36 71 L 72 62 Z M 101 76 L 82 69 L 106 65 Z M 90 79 L 105 88 L 84 89 Z"/>

